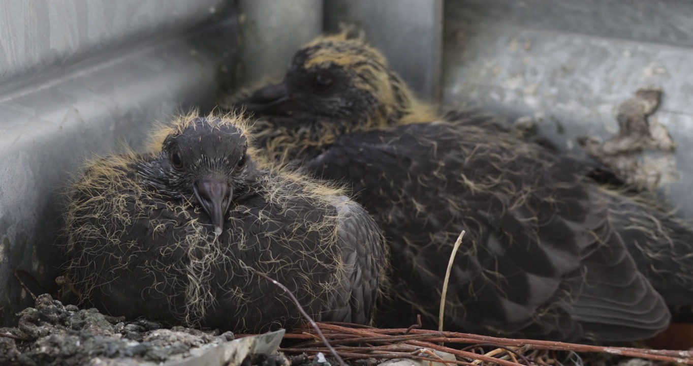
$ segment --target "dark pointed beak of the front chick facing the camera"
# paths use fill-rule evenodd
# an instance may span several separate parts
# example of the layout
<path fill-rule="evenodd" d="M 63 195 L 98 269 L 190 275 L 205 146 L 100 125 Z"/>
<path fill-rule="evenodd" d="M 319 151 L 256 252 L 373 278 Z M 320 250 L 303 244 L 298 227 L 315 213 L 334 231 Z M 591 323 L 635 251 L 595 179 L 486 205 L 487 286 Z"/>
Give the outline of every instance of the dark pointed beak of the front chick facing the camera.
<path fill-rule="evenodd" d="M 211 218 L 214 232 L 220 235 L 224 229 L 224 220 L 231 204 L 233 189 L 226 180 L 203 178 L 193 186 L 193 191 L 195 191 L 195 197 L 198 198 L 202 209 Z"/>

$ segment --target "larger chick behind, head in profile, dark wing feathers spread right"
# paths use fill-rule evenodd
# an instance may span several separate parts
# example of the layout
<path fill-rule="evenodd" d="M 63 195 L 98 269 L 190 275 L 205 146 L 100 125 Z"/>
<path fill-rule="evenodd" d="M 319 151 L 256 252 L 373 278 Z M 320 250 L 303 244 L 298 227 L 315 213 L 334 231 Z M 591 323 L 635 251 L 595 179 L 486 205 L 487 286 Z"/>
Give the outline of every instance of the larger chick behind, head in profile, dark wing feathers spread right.
<path fill-rule="evenodd" d="M 393 274 L 381 324 L 420 313 L 437 328 L 462 230 L 446 330 L 639 340 L 665 329 L 667 305 L 693 304 L 690 229 L 590 180 L 579 159 L 489 133 L 489 117 L 439 119 L 360 40 L 318 38 L 283 82 L 233 107 L 259 117 L 269 155 L 349 183 L 384 230 Z"/>

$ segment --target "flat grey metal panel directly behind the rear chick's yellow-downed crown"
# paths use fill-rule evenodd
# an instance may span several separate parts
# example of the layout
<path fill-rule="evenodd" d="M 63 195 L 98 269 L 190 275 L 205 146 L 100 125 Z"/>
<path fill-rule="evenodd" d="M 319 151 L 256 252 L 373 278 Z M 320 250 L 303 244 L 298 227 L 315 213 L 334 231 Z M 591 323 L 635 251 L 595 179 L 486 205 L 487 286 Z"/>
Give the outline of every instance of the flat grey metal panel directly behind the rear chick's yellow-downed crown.
<path fill-rule="evenodd" d="M 325 0 L 325 29 L 357 24 L 419 96 L 440 92 L 443 0 Z"/>

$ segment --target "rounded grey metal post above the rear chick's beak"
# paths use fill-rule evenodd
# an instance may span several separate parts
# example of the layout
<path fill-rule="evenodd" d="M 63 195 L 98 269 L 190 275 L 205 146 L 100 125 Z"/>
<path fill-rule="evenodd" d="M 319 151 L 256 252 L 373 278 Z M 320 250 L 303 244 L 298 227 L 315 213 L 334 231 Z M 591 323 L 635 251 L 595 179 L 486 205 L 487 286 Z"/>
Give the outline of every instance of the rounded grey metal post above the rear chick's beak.
<path fill-rule="evenodd" d="M 239 0 L 236 85 L 278 78 L 292 55 L 322 33 L 322 0 Z"/>

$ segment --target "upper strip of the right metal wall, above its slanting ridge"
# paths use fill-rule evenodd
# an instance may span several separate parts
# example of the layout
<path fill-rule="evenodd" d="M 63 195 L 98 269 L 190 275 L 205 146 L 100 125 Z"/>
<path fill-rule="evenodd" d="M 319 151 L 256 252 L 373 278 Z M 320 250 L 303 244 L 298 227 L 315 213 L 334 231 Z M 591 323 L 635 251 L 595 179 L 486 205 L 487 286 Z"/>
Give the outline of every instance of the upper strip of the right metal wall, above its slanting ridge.
<path fill-rule="evenodd" d="M 690 0 L 448 0 L 446 19 L 693 46 Z"/>

